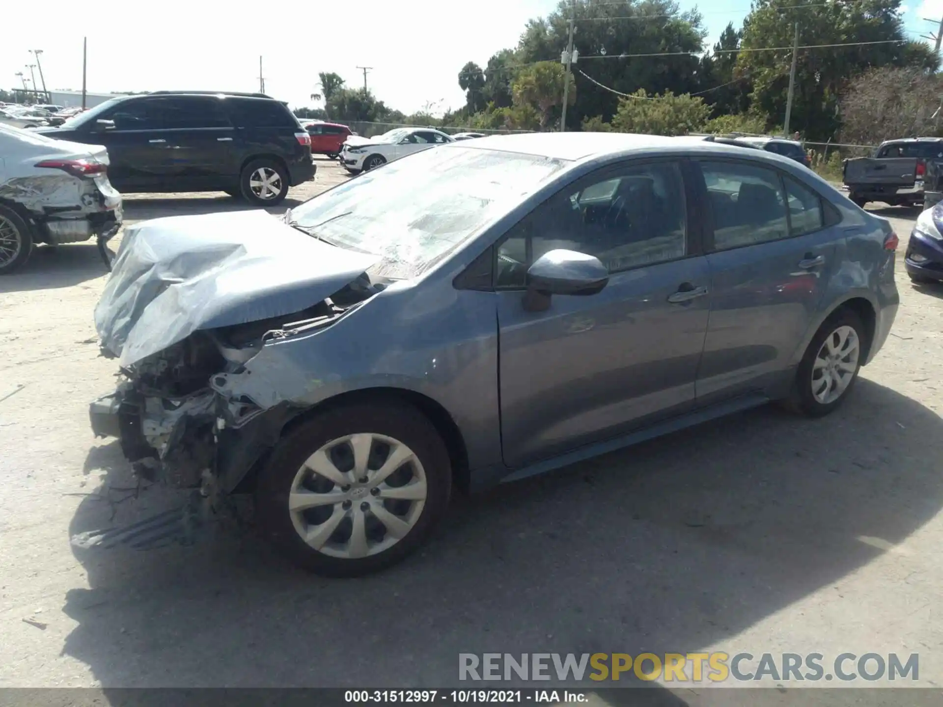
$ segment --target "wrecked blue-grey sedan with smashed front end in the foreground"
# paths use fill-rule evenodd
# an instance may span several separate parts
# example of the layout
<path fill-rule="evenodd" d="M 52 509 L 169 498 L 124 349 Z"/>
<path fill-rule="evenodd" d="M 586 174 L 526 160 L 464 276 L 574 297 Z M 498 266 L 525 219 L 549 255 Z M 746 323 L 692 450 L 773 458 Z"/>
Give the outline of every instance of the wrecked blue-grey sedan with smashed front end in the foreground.
<path fill-rule="evenodd" d="M 851 394 L 898 308 L 888 222 L 785 156 L 480 138 L 282 218 L 127 229 L 91 405 L 148 478 L 253 493 L 303 567 L 401 560 L 478 490 L 780 401 Z"/>

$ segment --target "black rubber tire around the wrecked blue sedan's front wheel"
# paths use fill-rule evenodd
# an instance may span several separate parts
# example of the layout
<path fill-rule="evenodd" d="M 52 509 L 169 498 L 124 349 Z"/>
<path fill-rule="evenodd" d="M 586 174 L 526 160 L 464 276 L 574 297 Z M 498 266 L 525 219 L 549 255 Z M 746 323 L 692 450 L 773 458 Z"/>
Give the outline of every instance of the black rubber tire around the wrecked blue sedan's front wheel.
<path fill-rule="evenodd" d="M 296 475 L 314 452 L 321 450 L 331 440 L 362 433 L 391 437 L 405 444 L 414 452 L 424 474 L 426 497 L 424 504 L 418 511 L 419 516 L 415 518 L 411 529 L 401 539 L 396 540 L 391 547 L 383 551 L 377 551 L 375 554 L 368 554 L 365 557 L 340 558 L 309 546 L 300 534 L 302 531 L 295 529 L 295 523 L 301 520 L 310 523 L 310 525 L 306 525 L 310 531 L 311 528 L 317 529 L 326 522 L 324 518 L 329 517 L 332 513 L 343 513 L 345 514 L 344 519 L 339 521 L 339 525 L 335 524 L 335 530 L 330 535 L 333 544 L 329 540 L 328 544 L 323 547 L 338 548 L 339 543 L 347 543 L 349 546 L 354 522 L 354 516 L 350 514 L 356 513 L 356 509 L 351 508 L 352 501 L 345 501 L 348 506 L 341 511 L 338 510 L 343 508 L 340 505 L 325 505 L 309 509 L 315 513 L 326 514 L 326 516 L 322 515 L 308 519 L 309 517 L 305 515 L 308 511 L 305 511 L 299 514 L 300 519 L 292 519 L 292 514 L 289 511 L 289 495 Z M 344 444 L 341 442 L 336 447 L 343 447 Z M 335 449 L 335 446 L 332 446 L 331 449 Z M 341 452 L 349 454 L 351 449 L 347 447 Z M 385 459 L 382 453 L 382 440 L 379 446 L 374 441 L 370 449 L 372 454 L 380 454 L 379 461 L 372 454 L 370 457 L 372 468 L 376 469 L 377 464 L 382 465 Z M 389 453 L 389 447 L 387 450 Z M 420 477 L 416 475 L 415 469 L 417 468 L 413 467 L 411 463 L 405 463 L 395 474 L 403 471 L 406 474 L 412 474 L 412 478 L 418 480 Z M 390 475 L 389 478 L 393 479 L 395 474 Z M 321 476 L 312 475 L 309 478 L 314 480 L 313 483 L 322 485 L 321 488 L 317 489 L 317 493 L 352 489 L 351 485 L 339 487 Z M 273 542 L 276 548 L 285 553 L 294 564 L 325 576 L 354 577 L 369 574 L 400 562 L 407 554 L 422 545 L 438 519 L 443 515 L 449 502 L 451 490 L 452 468 L 448 451 L 441 437 L 438 436 L 436 428 L 421 412 L 411 405 L 394 401 L 378 400 L 372 403 L 351 403 L 325 411 L 315 418 L 306 420 L 288 436 L 282 438 L 275 447 L 266 468 L 261 471 L 256 484 L 256 518 L 262 534 Z M 356 495 L 358 492 L 363 495 L 358 496 L 353 502 L 358 503 L 361 509 L 370 507 L 371 503 L 376 503 L 376 499 L 371 498 L 372 493 L 366 492 L 365 487 L 350 490 L 351 494 Z M 394 514 L 397 512 L 396 508 L 386 504 L 390 502 L 411 503 L 411 501 L 379 502 L 383 508 Z M 412 508 L 413 506 L 410 504 L 409 507 Z M 407 513 L 407 511 L 404 511 L 404 513 Z M 388 526 L 374 516 L 372 511 L 369 512 L 369 515 L 368 512 L 362 512 L 361 515 L 366 518 L 364 521 L 365 526 L 372 523 L 372 526 L 367 528 L 366 533 L 373 533 L 374 536 L 366 540 L 367 544 L 369 545 L 371 541 L 374 543 L 385 541 Z M 347 521 L 348 517 L 351 518 L 349 523 Z M 401 518 L 406 518 L 406 516 Z M 376 537 L 377 533 L 382 533 L 379 540 Z M 343 538 L 344 534 L 347 535 L 346 538 Z"/>

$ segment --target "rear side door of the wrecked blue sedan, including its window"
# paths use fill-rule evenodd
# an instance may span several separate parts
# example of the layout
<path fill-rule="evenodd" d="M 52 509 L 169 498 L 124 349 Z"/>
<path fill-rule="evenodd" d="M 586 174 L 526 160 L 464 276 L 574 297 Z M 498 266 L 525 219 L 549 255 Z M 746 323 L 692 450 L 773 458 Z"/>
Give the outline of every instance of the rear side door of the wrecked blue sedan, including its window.
<path fill-rule="evenodd" d="M 782 383 L 835 268 L 834 208 L 747 161 L 701 161 L 711 311 L 698 402 Z M 712 232 L 713 238 L 710 238 Z"/>

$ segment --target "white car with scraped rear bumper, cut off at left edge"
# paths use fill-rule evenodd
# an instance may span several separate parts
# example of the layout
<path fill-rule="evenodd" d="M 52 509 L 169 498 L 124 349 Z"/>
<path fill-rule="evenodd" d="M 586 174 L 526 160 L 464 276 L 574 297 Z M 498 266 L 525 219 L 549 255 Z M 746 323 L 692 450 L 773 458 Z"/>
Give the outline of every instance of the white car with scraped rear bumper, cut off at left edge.
<path fill-rule="evenodd" d="M 0 274 L 22 267 L 39 243 L 96 237 L 104 253 L 121 222 L 104 147 L 0 124 Z"/>

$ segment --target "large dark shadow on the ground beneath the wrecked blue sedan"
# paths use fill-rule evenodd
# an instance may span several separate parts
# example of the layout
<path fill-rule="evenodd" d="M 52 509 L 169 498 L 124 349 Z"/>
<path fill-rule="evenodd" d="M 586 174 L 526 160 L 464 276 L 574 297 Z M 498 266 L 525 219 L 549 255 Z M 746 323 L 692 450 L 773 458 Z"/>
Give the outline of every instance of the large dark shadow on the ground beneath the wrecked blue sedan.
<path fill-rule="evenodd" d="M 64 598 L 62 653 L 105 686 L 442 687 L 460 652 L 722 646 L 812 592 L 844 600 L 846 575 L 940 510 L 941 452 L 938 415 L 862 379 L 825 419 L 764 407 L 459 499 L 426 548 L 366 578 L 307 575 L 229 526 L 189 548 L 75 549 L 90 588 Z M 90 454 L 129 486 L 116 444 Z M 70 530 L 178 493 L 90 497 Z"/>

